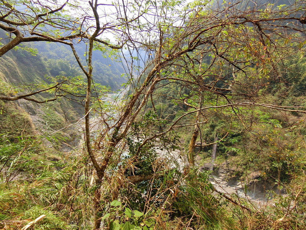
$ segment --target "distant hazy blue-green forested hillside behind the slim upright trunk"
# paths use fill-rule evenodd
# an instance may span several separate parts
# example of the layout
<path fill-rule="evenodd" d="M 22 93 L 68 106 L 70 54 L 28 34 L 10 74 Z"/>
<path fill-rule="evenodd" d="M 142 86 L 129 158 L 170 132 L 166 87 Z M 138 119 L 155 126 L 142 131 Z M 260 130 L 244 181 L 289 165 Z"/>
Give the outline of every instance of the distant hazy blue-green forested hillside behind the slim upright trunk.
<path fill-rule="evenodd" d="M 81 45 L 82 44 L 82 45 Z M 86 45 L 81 43 L 77 46 L 77 52 L 85 54 Z M 35 43 L 33 48 L 38 50 L 39 56 L 44 60 L 50 75 L 58 76 L 80 76 L 84 75 L 78 66 L 71 49 L 65 45 L 58 45 L 54 43 Z M 103 85 L 110 86 L 112 90 L 122 88 L 122 84 L 126 83 L 127 79 L 121 75 L 125 73 L 124 63 L 120 57 L 111 56 L 111 50 L 105 53 L 99 50 L 93 53 L 94 65 L 94 80 L 95 82 Z M 110 56 L 110 57 L 109 57 Z M 84 58 L 82 56 L 81 58 Z M 82 60 L 84 65 L 86 59 Z"/>

